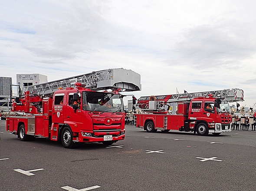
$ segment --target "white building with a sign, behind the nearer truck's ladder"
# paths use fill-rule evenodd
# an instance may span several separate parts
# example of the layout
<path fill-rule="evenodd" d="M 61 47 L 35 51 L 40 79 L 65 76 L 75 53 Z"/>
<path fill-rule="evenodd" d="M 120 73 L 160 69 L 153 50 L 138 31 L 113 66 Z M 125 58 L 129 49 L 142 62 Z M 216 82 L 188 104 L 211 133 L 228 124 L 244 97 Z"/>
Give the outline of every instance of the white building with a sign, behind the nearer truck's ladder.
<path fill-rule="evenodd" d="M 17 85 L 20 86 L 20 89 L 26 86 L 33 86 L 39 83 L 46 83 L 47 76 L 39 73 L 31 74 L 16 74 Z"/>

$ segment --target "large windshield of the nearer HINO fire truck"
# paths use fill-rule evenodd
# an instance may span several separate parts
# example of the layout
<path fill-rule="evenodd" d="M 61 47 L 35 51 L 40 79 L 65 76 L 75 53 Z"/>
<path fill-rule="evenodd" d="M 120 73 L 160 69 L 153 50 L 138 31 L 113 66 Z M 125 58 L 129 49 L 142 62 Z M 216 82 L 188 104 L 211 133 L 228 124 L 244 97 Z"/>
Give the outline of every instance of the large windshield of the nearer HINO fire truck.
<path fill-rule="evenodd" d="M 124 104 L 121 95 L 108 92 L 83 92 L 83 110 L 123 112 Z"/>

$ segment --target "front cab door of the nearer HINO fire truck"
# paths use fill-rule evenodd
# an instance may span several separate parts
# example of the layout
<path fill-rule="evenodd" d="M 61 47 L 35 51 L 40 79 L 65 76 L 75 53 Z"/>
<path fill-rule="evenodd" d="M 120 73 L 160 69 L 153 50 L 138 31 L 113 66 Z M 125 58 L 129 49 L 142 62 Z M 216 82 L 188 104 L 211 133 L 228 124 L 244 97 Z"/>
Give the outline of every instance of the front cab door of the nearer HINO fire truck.
<path fill-rule="evenodd" d="M 76 111 L 74 111 L 74 109 L 73 109 L 73 102 L 74 102 L 73 96 L 74 96 L 74 93 L 69 93 L 68 94 L 68 99 L 67 99 L 67 103 L 66 103 L 67 106 L 65 107 L 65 111 L 64 111 L 64 120 L 65 121 L 72 121 L 72 122 L 75 122 L 75 123 L 81 123 L 82 105 L 80 104 L 79 108 Z M 79 93 L 79 97 L 81 97 L 80 93 Z"/>

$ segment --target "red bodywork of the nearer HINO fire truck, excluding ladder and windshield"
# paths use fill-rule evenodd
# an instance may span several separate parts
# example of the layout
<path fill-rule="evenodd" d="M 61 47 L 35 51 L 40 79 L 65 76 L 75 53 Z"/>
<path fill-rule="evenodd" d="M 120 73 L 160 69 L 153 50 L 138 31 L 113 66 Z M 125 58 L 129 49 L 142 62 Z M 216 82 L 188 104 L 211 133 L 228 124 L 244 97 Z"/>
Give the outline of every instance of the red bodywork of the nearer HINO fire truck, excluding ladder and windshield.
<path fill-rule="evenodd" d="M 40 98 L 30 97 L 25 93 L 25 98 L 20 103 L 13 102 L 12 111 L 23 112 L 23 116 L 7 118 L 7 131 L 18 134 L 21 124 L 25 126 L 25 133 L 35 137 L 48 137 L 58 140 L 63 127 L 69 127 L 73 133 L 75 142 L 103 142 L 105 135 L 112 135 L 112 140 L 125 139 L 125 112 L 98 112 L 85 111 L 81 108 L 74 111 L 68 103 L 68 96 L 83 91 L 90 91 L 79 87 L 78 89 L 67 88 L 58 90 L 53 97 Z M 55 103 L 55 96 L 63 95 L 63 104 Z M 35 107 L 41 103 L 41 109 Z M 92 136 L 82 136 L 90 133 Z"/>

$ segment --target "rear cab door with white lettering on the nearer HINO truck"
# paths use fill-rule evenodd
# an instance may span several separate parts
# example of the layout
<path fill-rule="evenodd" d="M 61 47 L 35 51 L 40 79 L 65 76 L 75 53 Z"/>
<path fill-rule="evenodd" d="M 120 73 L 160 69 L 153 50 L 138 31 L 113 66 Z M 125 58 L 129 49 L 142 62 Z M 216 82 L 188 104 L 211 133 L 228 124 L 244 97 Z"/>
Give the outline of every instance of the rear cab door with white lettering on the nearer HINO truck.
<path fill-rule="evenodd" d="M 53 123 L 64 123 L 62 111 L 64 95 L 64 93 L 57 93 L 53 97 Z"/>

